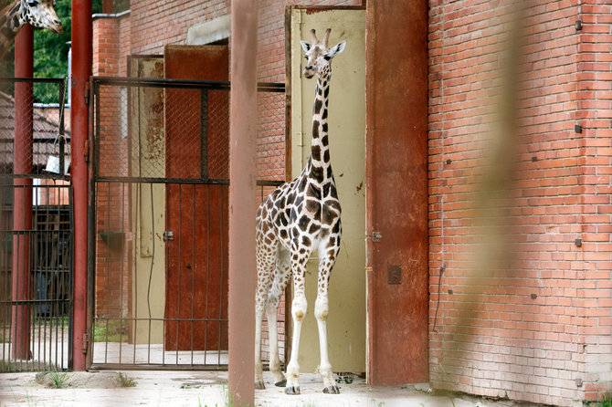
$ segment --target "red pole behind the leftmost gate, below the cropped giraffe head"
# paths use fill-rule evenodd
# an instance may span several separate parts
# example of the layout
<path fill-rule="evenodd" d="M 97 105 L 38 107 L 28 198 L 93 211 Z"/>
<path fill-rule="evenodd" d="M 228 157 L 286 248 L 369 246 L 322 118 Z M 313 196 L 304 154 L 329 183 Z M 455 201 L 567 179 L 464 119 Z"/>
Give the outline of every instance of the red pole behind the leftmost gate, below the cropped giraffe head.
<path fill-rule="evenodd" d="M 34 29 L 26 24 L 15 38 L 15 77 L 32 78 L 34 75 Z M 32 173 L 34 153 L 32 83 L 15 84 L 15 151 L 13 173 Z M 32 179 L 16 178 L 13 200 L 13 300 L 31 299 L 30 291 L 30 235 L 32 230 Z M 13 357 L 29 359 L 30 336 L 29 306 L 13 306 L 11 329 L 13 330 Z"/>

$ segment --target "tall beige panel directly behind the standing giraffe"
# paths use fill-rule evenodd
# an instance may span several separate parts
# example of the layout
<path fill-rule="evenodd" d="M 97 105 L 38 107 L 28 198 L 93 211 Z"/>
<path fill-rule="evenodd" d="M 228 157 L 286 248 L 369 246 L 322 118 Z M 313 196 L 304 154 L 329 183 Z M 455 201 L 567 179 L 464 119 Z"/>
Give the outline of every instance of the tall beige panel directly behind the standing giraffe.
<path fill-rule="evenodd" d="M 311 153 L 311 113 L 316 82 L 301 78 L 300 39 L 310 42 L 331 27 L 330 46 L 346 39 L 332 61 L 329 101 L 330 154 L 343 207 L 343 237 L 330 282 L 328 347 L 334 371 L 365 371 L 365 11 L 333 10 L 291 16 L 291 174 L 300 174 Z M 300 367 L 319 364 L 319 334 L 312 314 L 318 258 L 311 257 L 306 280 L 309 314 L 301 329 Z"/>

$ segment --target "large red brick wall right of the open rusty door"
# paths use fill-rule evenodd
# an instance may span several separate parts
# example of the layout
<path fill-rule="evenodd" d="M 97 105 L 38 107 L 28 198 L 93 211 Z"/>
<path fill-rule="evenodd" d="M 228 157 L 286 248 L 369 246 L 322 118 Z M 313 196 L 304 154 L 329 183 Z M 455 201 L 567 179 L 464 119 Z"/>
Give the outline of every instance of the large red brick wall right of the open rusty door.
<path fill-rule="evenodd" d="M 430 381 L 570 405 L 612 380 L 611 10 L 527 2 L 508 60 L 507 3 L 429 1 Z"/>

